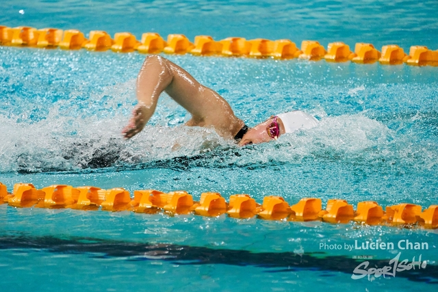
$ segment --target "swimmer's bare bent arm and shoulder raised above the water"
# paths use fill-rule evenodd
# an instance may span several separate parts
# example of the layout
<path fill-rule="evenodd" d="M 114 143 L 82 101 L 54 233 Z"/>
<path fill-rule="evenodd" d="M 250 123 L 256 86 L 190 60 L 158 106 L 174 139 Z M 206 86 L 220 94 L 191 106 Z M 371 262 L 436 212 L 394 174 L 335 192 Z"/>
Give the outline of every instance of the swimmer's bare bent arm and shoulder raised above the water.
<path fill-rule="evenodd" d="M 233 137 L 243 127 L 227 101 L 219 94 L 201 85 L 188 72 L 168 59 L 146 57 L 137 78 L 138 105 L 122 131 L 126 139 L 140 133 L 157 107 L 159 94 L 166 91 L 191 115 L 188 126 L 213 126 L 222 137 Z"/>

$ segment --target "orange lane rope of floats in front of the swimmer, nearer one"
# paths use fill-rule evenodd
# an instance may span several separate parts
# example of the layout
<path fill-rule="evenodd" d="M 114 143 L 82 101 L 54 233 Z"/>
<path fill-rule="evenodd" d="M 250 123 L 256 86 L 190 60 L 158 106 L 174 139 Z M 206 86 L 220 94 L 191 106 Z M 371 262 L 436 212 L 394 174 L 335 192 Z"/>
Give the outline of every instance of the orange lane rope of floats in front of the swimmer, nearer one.
<path fill-rule="evenodd" d="M 302 198 L 289 204 L 280 196 L 266 196 L 263 204 L 247 194 L 231 195 L 229 204 L 215 192 L 201 194 L 200 202 L 194 202 L 187 191 L 164 193 L 155 189 L 136 190 L 132 199 L 123 188 L 99 189 L 99 187 L 72 187 L 71 185 L 50 185 L 36 189 L 31 183 L 16 183 L 12 194 L 0 183 L 0 200 L 12 207 L 38 207 L 49 209 L 70 208 L 79 210 L 133 211 L 136 213 L 189 214 L 215 217 L 227 213 L 230 217 L 248 219 L 257 215 L 264 220 L 315 221 L 345 224 L 354 220 L 368 225 L 412 226 L 416 224 L 427 229 L 438 228 L 438 205 L 430 205 L 422 212 L 417 204 L 396 204 L 386 207 L 386 213 L 376 202 L 357 204 L 354 211 L 346 200 L 328 200 L 322 210 L 319 198 Z"/>

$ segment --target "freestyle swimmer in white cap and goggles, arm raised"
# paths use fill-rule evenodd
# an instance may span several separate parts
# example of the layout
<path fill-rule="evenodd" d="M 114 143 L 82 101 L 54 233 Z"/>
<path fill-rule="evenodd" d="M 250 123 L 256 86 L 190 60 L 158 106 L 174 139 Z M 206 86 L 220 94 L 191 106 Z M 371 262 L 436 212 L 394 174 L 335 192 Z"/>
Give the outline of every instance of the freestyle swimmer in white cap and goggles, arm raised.
<path fill-rule="evenodd" d="M 162 92 L 166 92 L 192 115 L 185 125 L 213 127 L 218 135 L 227 140 L 234 139 L 240 146 L 269 142 L 284 133 L 310 129 L 318 124 L 318 120 L 303 111 L 290 111 L 271 116 L 261 124 L 248 128 L 217 92 L 201 85 L 187 71 L 168 59 L 149 55 L 138 74 L 138 105 L 133 109 L 129 124 L 122 131 L 125 139 L 142 131 L 153 115 Z"/>

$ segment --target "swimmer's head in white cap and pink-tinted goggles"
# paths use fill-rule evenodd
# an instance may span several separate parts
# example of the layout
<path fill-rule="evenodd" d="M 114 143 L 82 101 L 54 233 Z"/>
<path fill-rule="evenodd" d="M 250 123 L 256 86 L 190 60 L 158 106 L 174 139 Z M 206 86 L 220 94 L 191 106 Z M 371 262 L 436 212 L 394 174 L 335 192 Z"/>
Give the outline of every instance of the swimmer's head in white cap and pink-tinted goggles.
<path fill-rule="evenodd" d="M 289 111 L 272 116 L 268 120 L 257 124 L 242 137 L 240 146 L 260 144 L 278 139 L 284 133 L 293 133 L 299 129 L 311 129 L 318 124 L 318 120 L 304 111 Z"/>

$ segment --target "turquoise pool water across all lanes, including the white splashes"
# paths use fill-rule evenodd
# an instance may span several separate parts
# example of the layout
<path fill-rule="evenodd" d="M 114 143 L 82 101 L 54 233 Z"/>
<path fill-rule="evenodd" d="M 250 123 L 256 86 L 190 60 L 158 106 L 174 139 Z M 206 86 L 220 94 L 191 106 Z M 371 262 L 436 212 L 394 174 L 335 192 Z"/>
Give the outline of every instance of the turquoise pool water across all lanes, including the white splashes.
<path fill-rule="evenodd" d="M 0 24 L 157 31 L 438 49 L 437 3 L 313 1 L 2 1 Z M 19 11 L 23 10 L 24 14 Z M 146 129 L 120 137 L 135 105 L 138 53 L 0 47 L 0 182 L 185 189 L 437 204 L 436 67 L 168 56 L 229 101 L 249 126 L 302 109 L 320 125 L 237 148 L 162 96 Z M 181 145 L 175 148 L 174 145 Z M 400 250 L 399 241 L 428 243 Z M 394 250 L 346 250 L 365 241 Z M 339 244 L 339 250 L 324 249 Z M 436 230 L 270 222 L 0 205 L 3 291 L 426 291 L 438 282 Z M 321 247 L 322 245 L 322 247 Z M 428 261 L 352 280 L 401 252 Z M 355 256 L 356 258 L 353 258 Z"/>

